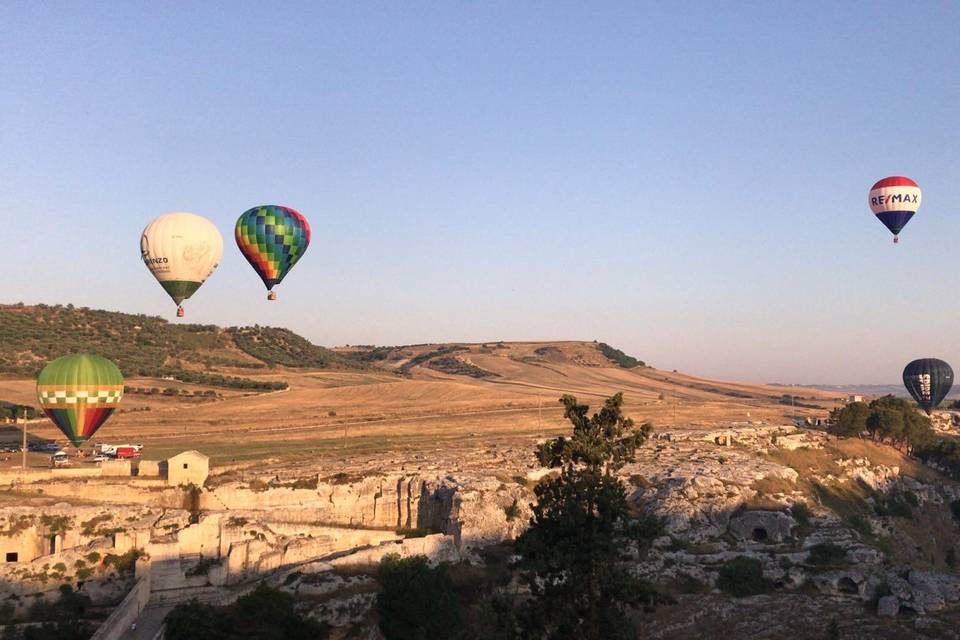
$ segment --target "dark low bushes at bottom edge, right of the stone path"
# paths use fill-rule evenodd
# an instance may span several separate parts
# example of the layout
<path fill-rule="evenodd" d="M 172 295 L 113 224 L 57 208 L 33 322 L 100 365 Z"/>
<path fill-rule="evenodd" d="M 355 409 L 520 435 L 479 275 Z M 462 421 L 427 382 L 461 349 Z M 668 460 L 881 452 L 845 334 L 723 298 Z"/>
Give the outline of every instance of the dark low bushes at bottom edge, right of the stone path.
<path fill-rule="evenodd" d="M 261 583 L 226 607 L 192 600 L 164 620 L 167 640 L 323 640 L 327 627 L 294 608 L 293 596 Z"/>

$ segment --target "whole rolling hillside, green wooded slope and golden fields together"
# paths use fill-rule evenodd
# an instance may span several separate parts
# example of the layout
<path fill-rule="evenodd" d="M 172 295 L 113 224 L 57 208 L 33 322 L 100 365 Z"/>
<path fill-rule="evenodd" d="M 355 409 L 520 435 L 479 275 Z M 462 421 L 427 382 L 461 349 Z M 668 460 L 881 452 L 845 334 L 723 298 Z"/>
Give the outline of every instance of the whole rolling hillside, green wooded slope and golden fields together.
<path fill-rule="evenodd" d="M 841 395 L 659 370 L 599 342 L 325 349 L 285 329 L 4 306 L 0 400 L 35 404 L 34 372 L 77 350 L 114 358 L 125 373 L 127 393 L 100 437 L 144 442 L 155 458 L 200 447 L 221 462 L 473 438 L 529 446 L 566 428 L 557 402 L 565 393 L 596 406 L 622 391 L 628 415 L 658 430 L 822 417 Z M 59 437 L 44 420 L 31 429 Z"/>

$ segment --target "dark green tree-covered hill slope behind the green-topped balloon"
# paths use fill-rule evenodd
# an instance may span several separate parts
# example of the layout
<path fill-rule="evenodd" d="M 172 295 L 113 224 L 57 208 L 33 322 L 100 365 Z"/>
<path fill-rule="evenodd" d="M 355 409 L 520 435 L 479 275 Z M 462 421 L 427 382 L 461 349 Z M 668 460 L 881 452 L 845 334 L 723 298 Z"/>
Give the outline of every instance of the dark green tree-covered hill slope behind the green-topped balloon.
<path fill-rule="evenodd" d="M 260 362 L 209 353 L 236 348 Z M 358 366 L 287 329 L 170 324 L 156 316 L 73 305 L 0 305 L 0 374 L 33 377 L 50 360 L 81 352 L 109 358 L 126 376 L 150 375 L 170 359 L 208 368 Z"/>

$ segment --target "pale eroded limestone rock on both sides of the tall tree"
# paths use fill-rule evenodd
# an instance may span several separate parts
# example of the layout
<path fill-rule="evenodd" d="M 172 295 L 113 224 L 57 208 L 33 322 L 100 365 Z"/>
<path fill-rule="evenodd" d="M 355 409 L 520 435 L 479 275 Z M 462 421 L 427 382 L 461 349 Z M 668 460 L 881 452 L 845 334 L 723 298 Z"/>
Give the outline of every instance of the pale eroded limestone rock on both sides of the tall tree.
<path fill-rule="evenodd" d="M 773 461 L 783 457 L 760 454 L 805 443 L 820 446 L 822 436 L 766 427 L 718 434 L 723 444 L 705 440 L 702 432 L 654 440 L 638 452 L 636 463 L 621 470 L 634 506 L 661 516 L 666 530 L 646 555 L 625 549 L 638 576 L 654 582 L 692 580 L 709 591 L 721 567 L 746 555 L 758 559 L 764 576 L 779 587 L 806 585 L 809 595 L 837 597 L 861 608 L 861 602 L 884 596 L 893 598 L 885 609 L 893 610 L 895 604 L 893 615 L 960 604 L 960 579 L 952 575 L 887 568 L 876 541 L 889 536 L 895 523 L 876 516 L 871 503 L 858 507 L 864 522 L 854 529 L 849 517 L 818 504 L 807 483 L 807 493 L 801 491 L 797 472 Z M 119 515 L 111 515 L 102 526 L 128 529 L 113 534 L 118 548 L 149 550 L 156 586 L 170 597 L 182 592 L 189 599 L 191 590 L 232 589 L 265 575 L 285 579 L 298 573 L 290 583 L 281 580 L 281 586 L 322 604 L 315 611 L 318 617 L 350 626 L 369 610 L 372 587 L 369 578 L 344 577 L 344 567 L 373 566 L 388 553 L 423 554 L 432 562 L 478 561 L 480 547 L 515 538 L 527 526 L 532 485 L 555 472 L 533 468 L 528 450 L 487 453 L 482 470 L 464 464 L 449 471 L 442 460 L 423 460 L 403 473 L 361 477 L 354 472 L 327 480 L 305 469 L 245 479 L 234 474 L 201 493 L 199 522 L 186 511 L 146 507 L 100 508 L 83 520 L 122 513 L 122 523 Z M 952 486 L 902 477 L 895 466 L 860 458 L 836 462 L 839 472 L 831 466 L 834 475 L 814 479 L 831 486 L 869 487 L 878 495 L 909 493 L 916 504 L 940 505 L 941 510 L 957 496 Z M 398 463 L 393 468 L 403 467 Z M 795 518 L 790 509 L 801 501 L 809 512 Z M 0 527 L 21 526 L 16 522 L 0 517 Z M 22 526 L 24 531 L 33 527 L 30 535 L 39 531 L 39 522 Z M 864 526 L 873 531 L 873 539 L 863 533 Z M 114 545 L 103 537 L 81 542 L 102 549 Z M 824 543 L 840 547 L 840 559 L 836 565 L 814 566 L 810 549 Z M 206 574 L 186 575 L 210 560 L 218 562 Z M 106 585 L 84 588 L 99 589 L 103 597 L 112 593 Z M 717 591 L 714 595 L 724 597 Z"/>

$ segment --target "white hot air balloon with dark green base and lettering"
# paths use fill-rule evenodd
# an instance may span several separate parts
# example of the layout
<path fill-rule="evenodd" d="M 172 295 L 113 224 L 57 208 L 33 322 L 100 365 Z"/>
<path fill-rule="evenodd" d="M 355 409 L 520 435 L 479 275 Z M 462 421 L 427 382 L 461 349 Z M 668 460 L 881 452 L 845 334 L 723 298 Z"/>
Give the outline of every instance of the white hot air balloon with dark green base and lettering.
<path fill-rule="evenodd" d="M 212 222 L 193 213 L 165 213 L 143 230 L 143 263 L 177 303 L 189 298 L 220 264 L 223 236 Z"/>

